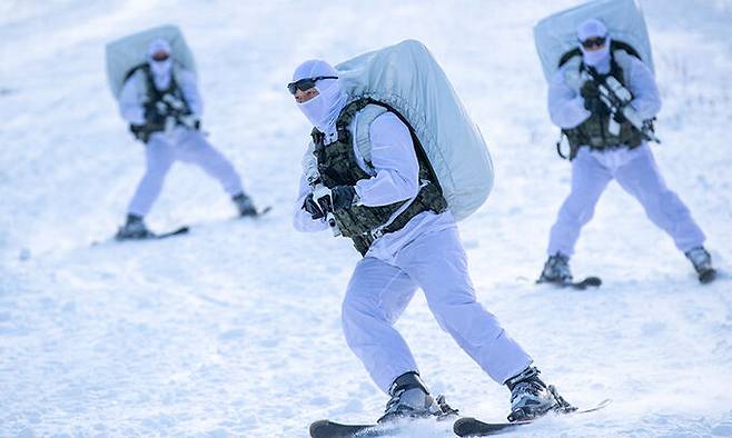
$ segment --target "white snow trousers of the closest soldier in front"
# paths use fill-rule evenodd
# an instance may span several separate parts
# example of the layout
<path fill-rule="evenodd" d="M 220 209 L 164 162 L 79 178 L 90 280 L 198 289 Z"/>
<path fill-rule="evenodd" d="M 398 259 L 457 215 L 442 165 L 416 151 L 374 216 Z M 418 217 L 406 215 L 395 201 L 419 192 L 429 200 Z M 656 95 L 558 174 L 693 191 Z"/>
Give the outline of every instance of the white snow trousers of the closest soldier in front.
<path fill-rule="evenodd" d="M 457 228 L 419 235 L 393 262 L 365 257 L 354 270 L 343 302 L 346 341 L 376 385 L 389 386 L 418 371 L 406 342 L 394 328 L 417 288 L 437 322 L 495 381 L 523 371 L 532 359 L 475 301 Z"/>

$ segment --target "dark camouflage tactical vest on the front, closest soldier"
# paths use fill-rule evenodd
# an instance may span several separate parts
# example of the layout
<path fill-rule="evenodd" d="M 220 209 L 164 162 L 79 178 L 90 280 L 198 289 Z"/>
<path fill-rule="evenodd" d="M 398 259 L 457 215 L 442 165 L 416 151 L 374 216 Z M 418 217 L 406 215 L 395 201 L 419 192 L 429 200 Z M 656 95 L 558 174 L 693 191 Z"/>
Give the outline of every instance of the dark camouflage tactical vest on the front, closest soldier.
<path fill-rule="evenodd" d="M 349 126 L 356 113 L 362 110 L 364 111 L 359 116 L 366 118 L 357 120 L 356 125 L 358 127 L 354 129 L 357 139 L 354 142 Z M 326 146 L 324 143 L 325 135 L 317 129 L 313 130 L 314 155 L 317 160 L 320 180 L 327 188 L 355 186 L 358 180 L 372 178 L 372 175 L 358 166 L 354 145 L 359 151 L 364 151 L 362 156 L 366 161 L 366 166 L 370 168 L 368 127 L 376 117 L 384 112 L 386 112 L 386 109 L 383 103 L 370 99 L 358 99 L 340 111 L 336 120 L 338 132 L 336 141 Z M 399 118 L 402 119 L 402 117 Z M 412 132 L 412 129 L 409 131 Z M 412 140 L 418 152 L 422 146 L 414 132 L 412 132 Z M 366 255 L 374 240 L 385 233 L 400 230 L 421 212 L 434 211 L 441 213 L 447 209 L 447 201 L 443 197 L 438 183 L 435 182 L 437 179 L 432 172 L 426 156 L 417 153 L 417 161 L 419 162 L 421 188 L 416 198 L 379 207 L 353 206 L 334 213 L 340 233 L 353 240 L 354 246 L 362 256 Z"/>

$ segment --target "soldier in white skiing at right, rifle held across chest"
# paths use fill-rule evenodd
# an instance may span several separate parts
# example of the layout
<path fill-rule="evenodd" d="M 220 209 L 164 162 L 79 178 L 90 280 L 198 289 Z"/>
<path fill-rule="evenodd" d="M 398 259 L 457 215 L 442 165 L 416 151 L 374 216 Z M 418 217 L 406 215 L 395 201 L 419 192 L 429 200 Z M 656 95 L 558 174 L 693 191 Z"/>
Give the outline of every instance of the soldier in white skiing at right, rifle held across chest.
<path fill-rule="evenodd" d="M 572 280 L 568 259 L 580 230 L 592 218 L 601 193 L 612 179 L 641 202 L 653 223 L 673 238 L 676 248 L 692 262 L 700 281 L 713 280 L 715 271 L 703 246 L 704 233 L 661 177 L 646 142 L 649 132 L 632 125 L 622 108 L 609 106 L 602 96 L 606 89 L 599 88 L 599 81 L 616 83 L 616 80 L 629 92 L 629 109 L 639 119 L 649 121 L 661 108 L 651 70 L 626 51 L 611 50 L 611 36 L 597 19 L 584 21 L 577 28 L 577 38 L 582 52 L 580 71 L 576 66 L 564 64 L 552 79 L 548 91 L 551 119 L 566 133 L 571 147 L 572 188 L 552 227 L 548 260 L 540 282 Z"/>

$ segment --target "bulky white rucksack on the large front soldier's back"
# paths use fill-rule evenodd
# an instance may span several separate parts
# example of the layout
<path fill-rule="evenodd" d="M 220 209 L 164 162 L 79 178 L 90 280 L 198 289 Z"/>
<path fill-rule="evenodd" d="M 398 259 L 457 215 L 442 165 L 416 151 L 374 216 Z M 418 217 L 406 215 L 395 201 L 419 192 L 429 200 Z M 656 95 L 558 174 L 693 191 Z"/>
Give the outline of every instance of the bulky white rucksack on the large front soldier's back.
<path fill-rule="evenodd" d="M 374 99 L 408 121 L 457 220 L 485 202 L 493 187 L 485 140 L 426 47 L 406 40 L 336 69 L 349 101 Z"/>

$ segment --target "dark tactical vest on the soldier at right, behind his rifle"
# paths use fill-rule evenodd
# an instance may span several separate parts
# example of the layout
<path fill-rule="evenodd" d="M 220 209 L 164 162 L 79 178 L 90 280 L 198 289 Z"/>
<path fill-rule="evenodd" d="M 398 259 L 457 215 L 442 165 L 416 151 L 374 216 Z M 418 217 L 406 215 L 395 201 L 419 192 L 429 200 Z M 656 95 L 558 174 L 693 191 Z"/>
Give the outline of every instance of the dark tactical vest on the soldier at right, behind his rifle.
<path fill-rule="evenodd" d="M 624 56 L 627 54 L 624 53 Z M 606 74 L 600 74 L 600 77 L 604 80 L 609 76 L 612 76 L 617 79 L 623 87 L 627 88 L 627 80 L 624 71 L 615 60 L 614 54 L 611 54 L 610 66 L 610 72 Z M 584 72 L 586 68 L 587 67 L 584 62 L 580 63 L 580 77 L 582 77 L 582 72 Z M 571 86 L 573 86 L 574 91 L 578 94 L 581 84 L 576 83 Z M 587 146 L 591 149 L 605 149 L 620 145 L 632 149 L 641 146 L 643 142 L 643 133 L 633 127 L 627 120 L 623 120 L 623 122 L 620 123 L 620 132 L 617 135 L 611 133 L 609 130 L 610 118 L 611 115 L 609 113 L 592 113 L 590 118 L 583 121 L 580 126 L 562 130 L 570 142 L 570 150 L 572 151 L 570 159 L 574 158 L 576 150 L 582 146 Z"/>

